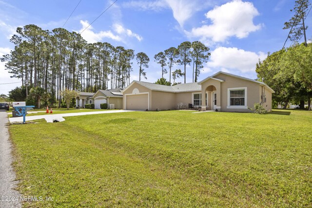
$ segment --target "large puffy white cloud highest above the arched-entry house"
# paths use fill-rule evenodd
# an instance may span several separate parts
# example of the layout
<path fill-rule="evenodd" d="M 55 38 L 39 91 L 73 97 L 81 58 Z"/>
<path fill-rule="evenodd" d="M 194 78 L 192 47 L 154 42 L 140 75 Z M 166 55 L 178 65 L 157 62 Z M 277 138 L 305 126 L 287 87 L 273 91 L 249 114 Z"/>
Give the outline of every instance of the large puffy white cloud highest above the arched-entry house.
<path fill-rule="evenodd" d="M 212 24 L 205 24 L 186 32 L 189 37 L 199 37 L 203 42 L 224 42 L 227 38 L 246 38 L 249 33 L 261 28 L 254 25 L 253 19 L 259 12 L 251 2 L 233 0 L 221 6 L 216 6 L 206 13 L 206 18 Z"/>

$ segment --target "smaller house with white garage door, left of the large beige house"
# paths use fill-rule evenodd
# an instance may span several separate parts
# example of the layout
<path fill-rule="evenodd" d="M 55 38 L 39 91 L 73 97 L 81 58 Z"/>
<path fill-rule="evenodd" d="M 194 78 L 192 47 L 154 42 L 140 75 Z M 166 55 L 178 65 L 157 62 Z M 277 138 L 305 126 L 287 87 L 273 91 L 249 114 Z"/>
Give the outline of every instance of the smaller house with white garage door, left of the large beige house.
<path fill-rule="evenodd" d="M 84 108 L 85 104 L 94 104 L 95 109 L 101 109 L 100 104 L 107 103 L 108 109 L 122 109 L 121 91 L 122 88 L 98 90 L 96 93 L 80 92 L 76 97 L 76 107 Z"/>

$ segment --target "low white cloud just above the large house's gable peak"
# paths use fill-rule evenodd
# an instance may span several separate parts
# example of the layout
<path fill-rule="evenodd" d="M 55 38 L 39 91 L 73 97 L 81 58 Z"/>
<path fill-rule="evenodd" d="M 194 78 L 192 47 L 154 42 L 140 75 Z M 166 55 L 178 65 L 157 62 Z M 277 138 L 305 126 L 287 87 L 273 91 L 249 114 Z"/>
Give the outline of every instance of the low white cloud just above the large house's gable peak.
<path fill-rule="evenodd" d="M 254 53 L 238 48 L 218 47 L 211 52 L 211 59 L 202 73 L 229 72 L 229 70 L 237 70 L 242 73 L 254 72 L 259 58 L 263 60 L 266 57 L 267 55 L 263 52 Z"/>

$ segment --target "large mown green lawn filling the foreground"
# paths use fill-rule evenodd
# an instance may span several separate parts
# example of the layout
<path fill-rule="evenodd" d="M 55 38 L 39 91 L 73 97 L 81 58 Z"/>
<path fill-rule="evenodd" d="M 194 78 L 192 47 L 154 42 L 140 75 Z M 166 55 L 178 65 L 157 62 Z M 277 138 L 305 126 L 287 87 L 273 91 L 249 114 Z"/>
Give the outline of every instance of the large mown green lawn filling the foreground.
<path fill-rule="evenodd" d="M 109 113 L 10 133 L 22 195 L 54 198 L 24 207 L 312 206 L 312 112 Z"/>

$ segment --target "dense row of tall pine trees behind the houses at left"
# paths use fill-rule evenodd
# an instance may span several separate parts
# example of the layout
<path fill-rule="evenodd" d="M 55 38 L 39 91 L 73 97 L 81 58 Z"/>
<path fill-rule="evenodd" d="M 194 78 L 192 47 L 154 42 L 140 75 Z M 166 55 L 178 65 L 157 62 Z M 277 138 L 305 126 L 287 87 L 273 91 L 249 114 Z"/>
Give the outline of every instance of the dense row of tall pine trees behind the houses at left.
<path fill-rule="evenodd" d="M 96 92 L 124 88 L 130 83 L 134 50 L 107 42 L 87 43 L 80 34 L 63 28 L 42 30 L 36 25 L 17 28 L 10 41 L 15 48 L 3 56 L 5 69 L 51 97 L 64 89 Z"/>

